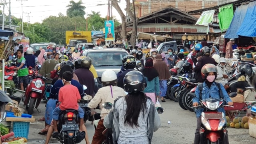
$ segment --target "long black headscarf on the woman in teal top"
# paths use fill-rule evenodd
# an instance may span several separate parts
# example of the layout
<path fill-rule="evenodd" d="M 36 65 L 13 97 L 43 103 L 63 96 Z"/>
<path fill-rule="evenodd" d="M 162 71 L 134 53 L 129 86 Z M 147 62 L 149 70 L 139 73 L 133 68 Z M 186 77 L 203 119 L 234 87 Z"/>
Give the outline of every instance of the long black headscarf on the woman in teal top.
<path fill-rule="evenodd" d="M 142 74 L 148 78 L 148 81 L 153 80 L 159 76 L 157 70 L 153 67 L 153 59 L 147 58 L 145 66 L 141 70 Z"/>

